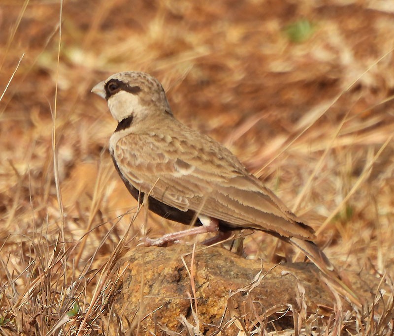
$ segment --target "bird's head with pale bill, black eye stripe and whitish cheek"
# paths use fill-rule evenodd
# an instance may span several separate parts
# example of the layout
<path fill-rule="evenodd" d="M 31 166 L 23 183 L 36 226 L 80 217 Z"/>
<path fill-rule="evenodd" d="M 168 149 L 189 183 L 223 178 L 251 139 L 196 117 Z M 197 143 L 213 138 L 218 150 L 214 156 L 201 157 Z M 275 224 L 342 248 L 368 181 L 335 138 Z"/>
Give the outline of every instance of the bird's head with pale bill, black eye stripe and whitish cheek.
<path fill-rule="evenodd" d="M 98 83 L 92 92 L 107 100 L 112 117 L 118 122 L 131 116 L 134 120 L 152 114 L 172 116 L 162 85 L 144 72 L 116 73 Z"/>

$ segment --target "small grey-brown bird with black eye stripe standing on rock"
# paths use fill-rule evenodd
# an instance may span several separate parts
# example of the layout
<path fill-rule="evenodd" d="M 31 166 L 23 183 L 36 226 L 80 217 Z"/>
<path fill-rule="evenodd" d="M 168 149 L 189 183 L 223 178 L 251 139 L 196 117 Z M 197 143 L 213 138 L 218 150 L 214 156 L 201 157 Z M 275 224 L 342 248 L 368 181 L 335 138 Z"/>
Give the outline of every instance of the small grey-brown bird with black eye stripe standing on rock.
<path fill-rule="evenodd" d="M 146 246 L 164 246 L 207 232 L 216 232 L 221 239 L 234 230 L 263 231 L 300 249 L 334 279 L 335 288 L 361 305 L 313 242 L 314 230 L 230 150 L 178 121 L 155 77 L 140 71 L 119 72 L 99 82 L 92 92 L 107 101 L 118 122 L 109 151 L 131 195 L 140 203 L 146 200 L 150 211 L 193 226 L 146 239 Z"/>

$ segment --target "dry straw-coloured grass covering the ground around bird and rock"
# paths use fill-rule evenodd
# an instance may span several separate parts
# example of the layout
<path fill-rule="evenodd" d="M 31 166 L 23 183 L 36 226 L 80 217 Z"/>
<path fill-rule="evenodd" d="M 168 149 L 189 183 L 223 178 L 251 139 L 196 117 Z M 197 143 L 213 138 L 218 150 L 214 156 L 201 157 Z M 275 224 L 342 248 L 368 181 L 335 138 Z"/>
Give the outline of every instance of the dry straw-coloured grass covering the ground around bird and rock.
<path fill-rule="evenodd" d="M 339 268 L 392 288 L 394 14 L 378 0 L 308 3 L 66 1 L 60 19 L 58 1 L 1 1 L 0 334 L 107 335 L 121 247 L 180 228 L 135 219 L 112 167 L 115 122 L 90 89 L 123 70 L 157 76 L 175 115 L 229 146 Z M 301 19 L 311 27 L 292 42 Z M 245 246 L 284 253 L 257 233 Z M 393 292 L 376 298 L 326 319 L 274 307 L 233 323 L 239 335 L 392 334 Z M 269 333 L 291 311 L 291 331 Z"/>

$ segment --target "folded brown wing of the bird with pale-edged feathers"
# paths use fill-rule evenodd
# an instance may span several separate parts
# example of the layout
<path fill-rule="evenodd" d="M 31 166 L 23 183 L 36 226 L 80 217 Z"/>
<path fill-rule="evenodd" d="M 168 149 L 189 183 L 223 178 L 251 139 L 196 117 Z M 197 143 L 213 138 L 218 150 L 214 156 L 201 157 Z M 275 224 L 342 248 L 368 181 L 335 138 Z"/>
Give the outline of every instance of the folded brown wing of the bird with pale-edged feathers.
<path fill-rule="evenodd" d="M 201 134 L 190 141 L 194 135 L 129 134 L 116 143 L 113 154 L 134 187 L 171 207 L 190 209 L 233 227 L 314 238 L 313 230 L 297 222 L 229 150 Z"/>

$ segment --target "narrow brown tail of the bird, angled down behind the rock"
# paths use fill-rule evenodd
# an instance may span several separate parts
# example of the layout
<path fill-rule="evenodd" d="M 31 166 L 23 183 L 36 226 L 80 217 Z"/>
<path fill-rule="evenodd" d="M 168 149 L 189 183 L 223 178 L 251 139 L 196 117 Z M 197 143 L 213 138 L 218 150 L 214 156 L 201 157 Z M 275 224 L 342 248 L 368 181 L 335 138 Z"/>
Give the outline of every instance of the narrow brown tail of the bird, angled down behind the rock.
<path fill-rule="evenodd" d="M 342 296 L 347 298 L 351 303 L 361 308 L 362 304 L 356 293 L 346 285 L 339 273 L 335 270 L 334 265 L 328 260 L 324 252 L 313 242 L 305 241 L 299 238 L 288 238 L 289 242 L 298 247 L 312 261 L 320 271 L 322 271 L 329 284 Z"/>

